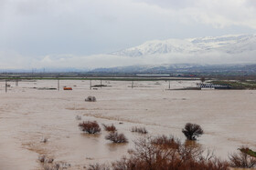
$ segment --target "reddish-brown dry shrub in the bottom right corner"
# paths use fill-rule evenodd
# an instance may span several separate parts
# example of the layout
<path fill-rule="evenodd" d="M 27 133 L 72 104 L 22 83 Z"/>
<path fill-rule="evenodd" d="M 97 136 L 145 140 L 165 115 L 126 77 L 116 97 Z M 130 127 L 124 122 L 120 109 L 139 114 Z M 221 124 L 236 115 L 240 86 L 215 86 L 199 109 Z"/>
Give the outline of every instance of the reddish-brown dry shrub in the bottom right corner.
<path fill-rule="evenodd" d="M 241 168 L 251 168 L 256 167 L 256 158 L 245 153 L 245 147 L 240 148 L 239 154 L 229 155 L 230 166 L 232 167 L 241 167 Z"/>

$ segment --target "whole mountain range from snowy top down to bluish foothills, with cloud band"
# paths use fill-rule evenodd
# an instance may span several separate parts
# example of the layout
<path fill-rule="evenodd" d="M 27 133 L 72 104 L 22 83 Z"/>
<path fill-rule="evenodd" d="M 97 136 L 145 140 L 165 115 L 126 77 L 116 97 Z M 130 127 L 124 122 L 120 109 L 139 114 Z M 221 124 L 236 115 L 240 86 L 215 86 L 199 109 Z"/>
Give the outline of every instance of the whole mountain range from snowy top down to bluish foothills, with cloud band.
<path fill-rule="evenodd" d="M 109 55 L 121 58 L 130 57 L 142 61 L 142 63 L 97 68 L 92 71 L 109 73 L 239 72 L 254 74 L 256 73 L 256 35 L 154 40 Z M 146 61 L 150 62 L 147 63 Z"/>

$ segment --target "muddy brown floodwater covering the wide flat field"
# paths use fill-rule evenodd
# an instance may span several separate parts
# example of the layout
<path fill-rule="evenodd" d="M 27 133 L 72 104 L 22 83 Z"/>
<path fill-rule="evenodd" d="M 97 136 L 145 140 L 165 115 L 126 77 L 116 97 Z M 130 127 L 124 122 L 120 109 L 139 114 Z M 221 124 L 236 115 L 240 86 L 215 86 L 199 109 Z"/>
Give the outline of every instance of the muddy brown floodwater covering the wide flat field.
<path fill-rule="evenodd" d="M 196 86 L 197 81 L 171 81 L 171 88 Z M 23 81 L 5 93 L 0 82 L 0 165 L 3 169 L 40 169 L 38 155 L 67 162 L 70 169 L 93 163 L 112 162 L 127 154 L 133 140 L 133 126 L 145 127 L 150 135 L 175 135 L 185 141 L 181 129 L 187 122 L 205 131 L 198 145 L 227 158 L 241 145 L 256 150 L 256 91 L 253 90 L 166 90 L 165 81 Z M 100 85 L 100 81 L 92 81 Z M 72 91 L 63 91 L 70 86 Z M 85 102 L 94 95 L 97 102 Z M 76 116 L 80 115 L 81 120 Z M 112 145 L 99 135 L 83 134 L 78 124 L 96 120 L 100 125 L 115 125 L 129 143 Z M 41 139 L 47 138 L 47 143 Z"/>

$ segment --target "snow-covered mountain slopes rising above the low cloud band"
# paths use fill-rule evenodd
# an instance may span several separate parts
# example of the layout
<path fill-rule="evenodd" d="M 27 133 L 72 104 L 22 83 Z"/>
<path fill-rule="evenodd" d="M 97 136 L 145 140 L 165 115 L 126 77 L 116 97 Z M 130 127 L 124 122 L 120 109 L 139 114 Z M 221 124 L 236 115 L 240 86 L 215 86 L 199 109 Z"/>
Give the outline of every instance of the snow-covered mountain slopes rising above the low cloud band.
<path fill-rule="evenodd" d="M 197 55 L 218 52 L 221 54 L 240 54 L 255 51 L 256 35 L 223 35 L 189 39 L 168 39 L 145 42 L 132 48 L 114 52 L 111 55 Z"/>

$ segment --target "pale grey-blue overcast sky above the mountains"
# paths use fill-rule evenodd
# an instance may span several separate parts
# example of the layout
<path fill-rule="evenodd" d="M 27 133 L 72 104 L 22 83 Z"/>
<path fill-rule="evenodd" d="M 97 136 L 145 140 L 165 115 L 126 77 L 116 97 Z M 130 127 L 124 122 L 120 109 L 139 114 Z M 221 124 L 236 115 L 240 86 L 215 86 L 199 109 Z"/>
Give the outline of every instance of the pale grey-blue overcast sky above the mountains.
<path fill-rule="evenodd" d="M 255 0 L 0 0 L 0 68 L 104 66 L 84 58 L 155 39 L 255 34 L 255 16 Z"/>

